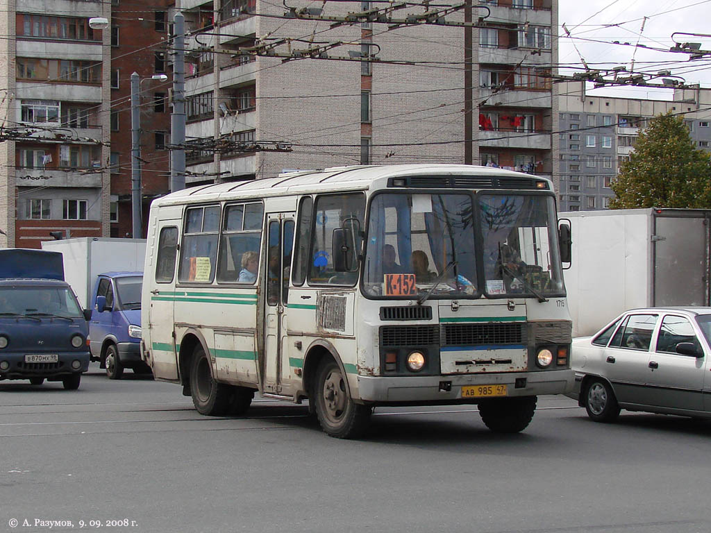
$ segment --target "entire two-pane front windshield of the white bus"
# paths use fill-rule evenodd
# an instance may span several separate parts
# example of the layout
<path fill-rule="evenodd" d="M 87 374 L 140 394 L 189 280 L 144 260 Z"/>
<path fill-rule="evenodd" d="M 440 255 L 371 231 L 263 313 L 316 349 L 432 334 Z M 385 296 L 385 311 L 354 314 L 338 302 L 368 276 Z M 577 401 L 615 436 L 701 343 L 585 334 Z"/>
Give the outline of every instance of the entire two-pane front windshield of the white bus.
<path fill-rule="evenodd" d="M 368 220 L 366 296 L 563 294 L 550 195 L 382 193 Z"/>

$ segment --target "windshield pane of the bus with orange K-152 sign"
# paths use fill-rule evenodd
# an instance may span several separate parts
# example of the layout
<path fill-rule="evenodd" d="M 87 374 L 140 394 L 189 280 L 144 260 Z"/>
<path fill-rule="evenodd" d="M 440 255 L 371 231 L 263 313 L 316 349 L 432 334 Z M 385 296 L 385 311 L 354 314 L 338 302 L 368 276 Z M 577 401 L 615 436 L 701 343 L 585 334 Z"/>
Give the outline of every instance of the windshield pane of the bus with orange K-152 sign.
<path fill-rule="evenodd" d="M 471 195 L 383 193 L 373 198 L 365 294 L 474 295 L 476 266 Z"/>

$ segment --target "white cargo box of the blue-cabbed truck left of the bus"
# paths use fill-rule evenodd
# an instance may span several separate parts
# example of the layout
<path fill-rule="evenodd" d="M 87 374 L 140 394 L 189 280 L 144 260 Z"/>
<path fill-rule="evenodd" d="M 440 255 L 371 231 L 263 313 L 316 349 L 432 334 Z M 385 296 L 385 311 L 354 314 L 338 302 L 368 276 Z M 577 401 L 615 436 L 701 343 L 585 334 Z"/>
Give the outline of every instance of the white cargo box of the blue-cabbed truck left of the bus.
<path fill-rule="evenodd" d="M 146 239 L 75 237 L 45 241 L 42 249 L 62 252 L 65 279 L 83 308 L 91 308 L 97 276 L 106 272 L 142 272 Z"/>

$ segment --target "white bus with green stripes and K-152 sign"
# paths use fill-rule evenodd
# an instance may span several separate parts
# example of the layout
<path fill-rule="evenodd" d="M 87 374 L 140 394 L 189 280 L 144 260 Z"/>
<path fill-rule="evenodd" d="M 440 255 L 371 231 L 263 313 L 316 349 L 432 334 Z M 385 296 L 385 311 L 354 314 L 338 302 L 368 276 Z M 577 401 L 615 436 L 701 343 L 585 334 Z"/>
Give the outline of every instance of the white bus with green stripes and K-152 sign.
<path fill-rule="evenodd" d="M 422 164 L 198 186 L 154 201 L 147 244 L 141 352 L 201 414 L 309 399 L 353 438 L 375 406 L 478 404 L 515 432 L 572 389 L 570 242 L 545 178 Z"/>

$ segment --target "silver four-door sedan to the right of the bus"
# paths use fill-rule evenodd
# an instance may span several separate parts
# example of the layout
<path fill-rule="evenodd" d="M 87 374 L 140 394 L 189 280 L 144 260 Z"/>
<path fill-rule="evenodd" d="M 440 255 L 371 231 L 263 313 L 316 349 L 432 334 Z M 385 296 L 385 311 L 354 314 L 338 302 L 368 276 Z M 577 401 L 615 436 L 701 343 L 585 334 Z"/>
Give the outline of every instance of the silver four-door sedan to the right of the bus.
<path fill-rule="evenodd" d="M 621 409 L 711 418 L 711 308 L 626 311 L 573 340 L 570 397 L 594 421 Z"/>

